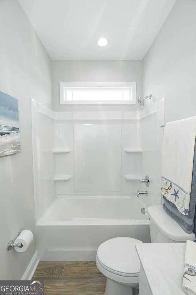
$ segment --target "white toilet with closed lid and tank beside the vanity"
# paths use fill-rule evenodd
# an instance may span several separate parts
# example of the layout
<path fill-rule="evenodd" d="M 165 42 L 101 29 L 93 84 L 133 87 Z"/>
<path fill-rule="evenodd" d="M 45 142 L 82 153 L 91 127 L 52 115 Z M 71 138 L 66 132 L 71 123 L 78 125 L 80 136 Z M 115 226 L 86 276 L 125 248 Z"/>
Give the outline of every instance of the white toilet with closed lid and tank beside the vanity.
<path fill-rule="evenodd" d="M 162 206 L 148 208 L 152 243 L 183 243 L 194 241 L 194 233 L 187 234 Z M 96 265 L 107 277 L 104 295 L 133 295 L 139 286 L 139 258 L 134 238 L 119 237 L 102 243 L 96 256 Z"/>

